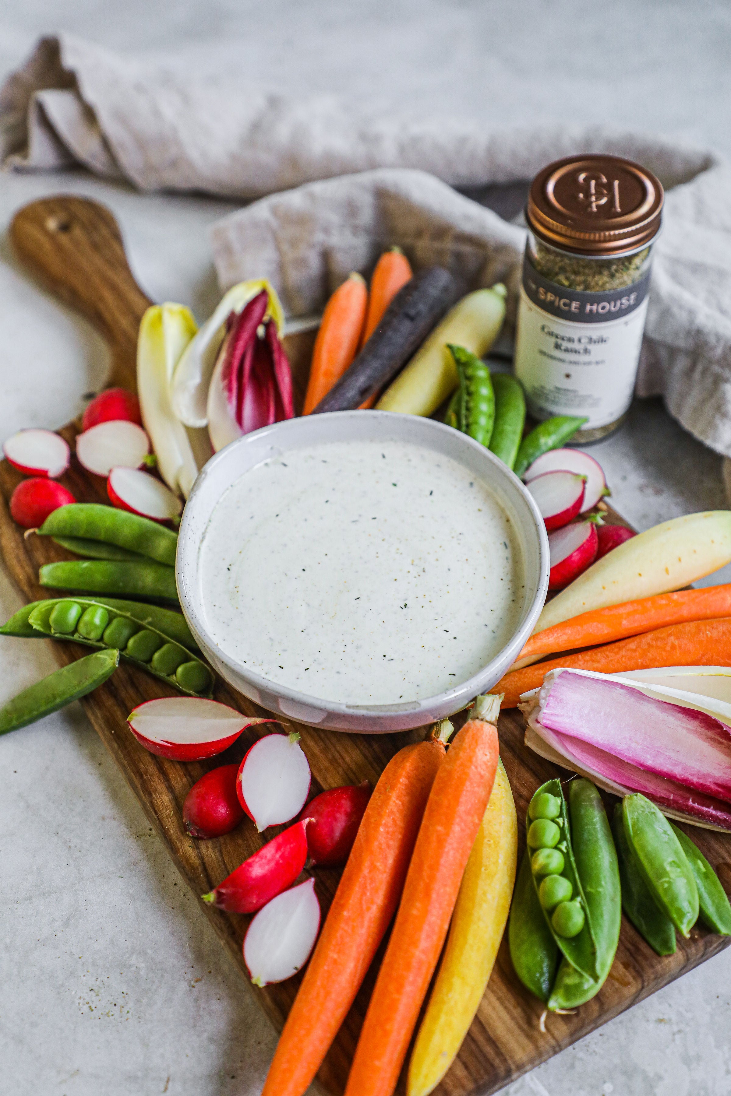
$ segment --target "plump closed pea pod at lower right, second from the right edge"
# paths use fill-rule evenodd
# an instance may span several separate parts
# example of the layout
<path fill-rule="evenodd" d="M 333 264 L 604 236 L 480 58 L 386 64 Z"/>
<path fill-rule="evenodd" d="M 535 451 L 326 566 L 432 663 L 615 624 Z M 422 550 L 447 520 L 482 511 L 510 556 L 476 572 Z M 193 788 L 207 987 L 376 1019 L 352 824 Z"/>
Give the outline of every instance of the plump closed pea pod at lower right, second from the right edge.
<path fill-rule="evenodd" d="M 621 815 L 627 843 L 650 893 L 678 933 L 689 936 L 698 920 L 698 888 L 670 822 L 638 791 L 625 796 Z"/>

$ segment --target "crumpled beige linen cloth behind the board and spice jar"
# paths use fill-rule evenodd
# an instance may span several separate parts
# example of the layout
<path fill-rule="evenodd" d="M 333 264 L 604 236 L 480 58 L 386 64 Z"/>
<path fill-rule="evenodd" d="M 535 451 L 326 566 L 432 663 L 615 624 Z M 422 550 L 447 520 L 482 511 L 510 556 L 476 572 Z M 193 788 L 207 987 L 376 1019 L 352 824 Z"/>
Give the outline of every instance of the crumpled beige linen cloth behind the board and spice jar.
<path fill-rule="evenodd" d="M 572 152 L 627 156 L 666 187 L 637 391 L 662 395 L 731 456 L 731 168 L 697 149 L 605 129 L 498 132 L 327 96 L 241 92 L 221 78 L 42 39 L 0 90 L 7 168 L 83 164 L 144 191 L 259 198 L 212 231 L 225 289 L 266 276 L 289 316 L 321 309 L 351 270 L 400 244 L 466 287 L 503 279 L 510 317 L 525 231 L 453 187 L 529 180 Z M 266 195 L 266 196 L 264 196 Z"/>

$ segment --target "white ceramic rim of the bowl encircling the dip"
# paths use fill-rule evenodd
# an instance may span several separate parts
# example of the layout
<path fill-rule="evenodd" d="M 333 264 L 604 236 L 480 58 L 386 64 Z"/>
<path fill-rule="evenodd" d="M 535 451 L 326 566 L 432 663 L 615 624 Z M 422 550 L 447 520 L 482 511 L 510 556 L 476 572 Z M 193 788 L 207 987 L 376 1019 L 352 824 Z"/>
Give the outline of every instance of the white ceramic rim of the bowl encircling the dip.
<path fill-rule="evenodd" d="M 491 667 L 499 661 L 505 659 L 506 652 L 513 652 L 510 664 L 515 660 L 517 652 L 522 650 L 526 639 L 532 633 L 535 623 L 544 607 L 546 595 L 548 593 L 548 576 L 550 570 L 549 563 L 549 545 L 548 545 L 548 534 L 546 532 L 546 525 L 540 515 L 540 511 L 530 494 L 526 489 L 525 484 L 515 472 L 507 467 L 499 457 L 491 453 L 486 446 L 476 442 L 473 438 L 469 437 L 459 431 L 456 431 L 453 426 L 448 426 L 446 423 L 438 422 L 435 419 L 427 419 L 420 415 L 401 414 L 392 411 L 375 411 L 370 410 L 367 412 L 367 418 L 370 422 L 376 424 L 376 422 L 384 422 L 388 420 L 391 424 L 390 429 L 398 432 L 398 421 L 406 420 L 411 430 L 423 429 L 426 436 L 430 431 L 435 431 L 437 434 L 448 433 L 450 435 L 450 441 L 458 447 L 460 445 L 466 446 L 468 449 L 471 448 L 472 452 L 477 452 L 481 459 L 487 460 L 488 465 L 492 465 L 493 470 L 498 473 L 498 477 L 504 477 L 506 483 L 516 489 L 518 495 L 522 496 L 523 502 L 527 505 L 527 509 L 533 517 L 534 530 L 537 534 L 537 552 L 538 552 L 538 581 L 536 583 L 536 590 L 527 607 L 524 605 L 524 618 L 519 628 L 513 633 L 510 642 L 498 651 L 495 657 L 486 663 L 476 674 L 468 677 L 466 681 L 453 688 L 446 689 L 442 693 L 435 693 L 431 696 L 423 697 L 419 700 L 410 700 L 397 704 L 386 704 L 386 705 L 366 705 L 366 704 L 346 704 L 338 700 L 329 700 L 322 697 L 311 696 L 308 693 L 301 693 L 298 689 L 290 688 L 286 685 L 279 685 L 277 682 L 271 681 L 269 677 L 263 677 L 260 674 L 250 671 L 248 666 L 242 663 L 237 662 L 230 654 L 228 654 L 214 639 L 209 632 L 203 610 L 202 598 L 193 597 L 192 590 L 197 586 L 198 576 L 198 555 L 199 547 L 203 544 L 203 536 L 198 543 L 193 543 L 194 538 L 189 535 L 189 526 L 191 523 L 191 514 L 195 510 L 198 499 L 203 495 L 206 490 L 207 482 L 210 480 L 214 472 L 217 470 L 218 466 L 232 459 L 233 454 L 237 449 L 243 448 L 254 442 L 260 442 L 267 435 L 274 434 L 278 438 L 279 434 L 285 435 L 288 430 L 293 429 L 293 425 L 298 424 L 296 429 L 307 430 L 308 427 L 304 425 L 305 423 L 311 422 L 313 430 L 327 431 L 327 422 L 342 422 L 344 419 L 349 419 L 353 415 L 358 416 L 358 422 L 363 422 L 363 412 L 361 410 L 354 411 L 332 411 L 324 414 L 318 415 L 298 415 L 294 419 L 285 419 L 281 422 L 273 423 L 270 426 L 262 426 L 260 430 L 251 431 L 248 434 L 241 435 L 241 437 L 236 438 L 236 441 L 229 443 L 229 445 L 219 449 L 205 465 L 205 467 L 198 473 L 193 489 L 187 498 L 185 509 L 183 511 L 183 518 L 179 529 L 178 538 L 178 549 L 175 556 L 175 580 L 178 584 L 178 595 L 181 603 L 181 608 L 183 615 L 193 632 L 195 639 L 201 643 L 204 650 L 206 649 L 215 652 L 215 658 L 222 665 L 227 667 L 232 674 L 243 678 L 248 684 L 250 684 L 259 694 L 273 694 L 278 698 L 286 700 L 293 706 L 301 706 L 302 708 L 311 709 L 313 711 L 323 711 L 327 715 L 343 716 L 345 718 L 363 718 L 365 720 L 387 720 L 389 716 L 398 719 L 399 717 L 407 716 L 409 713 L 416 713 L 423 711 L 426 713 L 430 709 L 444 708 L 445 705 L 450 708 L 453 712 L 461 710 L 466 704 L 478 696 L 482 688 L 480 687 L 480 682 L 486 682 L 490 676 Z M 419 423 L 420 426 L 414 424 Z M 427 424 L 427 425 L 426 425 Z M 397 437 L 398 439 L 398 437 Z M 403 441 L 411 441 L 410 438 L 401 438 Z M 335 438 L 333 438 L 335 441 Z M 317 441 L 312 439 L 311 444 L 327 444 L 327 437 L 319 437 Z M 272 444 L 275 444 L 274 441 Z M 411 444 L 419 444 L 416 442 L 411 442 Z M 424 445 L 430 447 L 427 442 L 424 441 Z M 299 448 L 301 446 L 289 446 L 289 448 Z M 286 445 L 278 445 L 278 448 L 286 449 Z M 265 458 L 264 458 L 265 459 Z M 453 459 L 459 460 L 457 456 Z M 252 466 L 254 467 L 254 466 Z M 240 472 L 239 475 L 245 475 Z M 236 482 L 239 476 L 231 478 L 229 487 Z M 221 498 L 219 495 L 219 498 Z M 499 500 L 500 501 L 500 500 Z M 217 503 L 214 503 L 214 507 Z M 210 513 L 213 513 L 213 507 Z M 189 520 L 186 522 L 186 514 Z M 209 520 L 209 518 L 208 518 Z M 206 522 L 207 526 L 207 522 Z M 525 532 L 522 533 L 522 549 L 525 544 Z M 525 555 L 525 552 L 524 552 Z M 527 560 L 524 560 L 524 566 L 527 569 Z M 196 578 L 196 582 L 190 582 L 184 572 L 191 569 L 192 573 Z M 199 604 L 198 604 L 199 603 Z M 230 680 L 229 680 L 230 683 Z M 232 686 L 237 688 L 236 685 Z M 245 695 L 245 694 L 244 694 Z M 461 703 L 464 700 L 464 704 Z M 298 717 L 301 718 L 301 717 Z M 307 719 L 301 721 L 307 722 Z M 419 722 L 414 722 L 412 726 L 421 726 Z"/>

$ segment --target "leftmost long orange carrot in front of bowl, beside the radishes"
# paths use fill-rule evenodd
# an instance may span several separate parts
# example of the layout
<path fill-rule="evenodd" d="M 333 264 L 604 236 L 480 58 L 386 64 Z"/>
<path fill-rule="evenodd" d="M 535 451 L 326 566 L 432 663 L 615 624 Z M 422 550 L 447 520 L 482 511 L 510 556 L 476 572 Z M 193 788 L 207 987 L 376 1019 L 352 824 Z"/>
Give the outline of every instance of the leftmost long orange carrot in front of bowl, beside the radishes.
<path fill-rule="evenodd" d="M 452 731 L 446 720 L 444 728 L 445 733 Z M 444 756 L 444 742 L 432 737 L 404 746 L 381 773 L 279 1037 L 262 1096 L 301 1096 L 322 1064 L 399 904 Z"/>

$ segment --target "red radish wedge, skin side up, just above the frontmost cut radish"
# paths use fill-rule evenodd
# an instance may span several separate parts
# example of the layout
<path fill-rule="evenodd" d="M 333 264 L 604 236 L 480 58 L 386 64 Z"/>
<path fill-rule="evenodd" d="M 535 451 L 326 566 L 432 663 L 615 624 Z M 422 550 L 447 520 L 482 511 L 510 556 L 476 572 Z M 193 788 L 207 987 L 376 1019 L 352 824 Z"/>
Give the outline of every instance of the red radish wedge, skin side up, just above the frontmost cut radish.
<path fill-rule="evenodd" d="M 229 913 L 255 913 L 292 887 L 307 859 L 307 825 L 310 819 L 290 825 L 250 856 L 230 876 L 203 895 Z"/>

